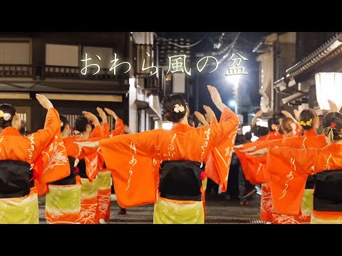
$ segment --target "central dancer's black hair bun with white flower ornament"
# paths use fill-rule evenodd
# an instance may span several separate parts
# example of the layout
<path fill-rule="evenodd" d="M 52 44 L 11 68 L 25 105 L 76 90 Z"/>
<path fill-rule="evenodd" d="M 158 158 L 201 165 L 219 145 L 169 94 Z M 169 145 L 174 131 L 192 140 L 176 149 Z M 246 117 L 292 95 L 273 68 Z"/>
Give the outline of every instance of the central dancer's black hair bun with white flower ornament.
<path fill-rule="evenodd" d="M 184 111 L 179 111 L 178 109 L 178 112 L 177 110 L 175 111 L 176 105 L 184 107 Z M 187 102 L 179 94 L 165 96 L 161 104 L 162 114 L 169 122 L 180 122 L 180 119 L 185 117 L 186 107 Z"/>

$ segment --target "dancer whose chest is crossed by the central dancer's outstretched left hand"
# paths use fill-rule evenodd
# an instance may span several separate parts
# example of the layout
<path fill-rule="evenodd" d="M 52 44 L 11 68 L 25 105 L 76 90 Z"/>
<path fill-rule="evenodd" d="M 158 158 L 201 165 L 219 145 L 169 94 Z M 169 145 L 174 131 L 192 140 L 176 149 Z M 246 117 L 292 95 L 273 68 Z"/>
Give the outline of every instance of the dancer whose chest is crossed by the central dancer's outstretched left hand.
<path fill-rule="evenodd" d="M 90 112 L 83 111 L 84 116 L 75 120 L 74 129 L 78 135 L 63 139 L 68 156 L 71 156 L 78 167 L 81 177 L 81 224 L 98 224 L 98 151 L 83 148 L 74 142 L 98 141 L 103 139 L 103 129 L 98 118 Z M 91 131 L 91 123 L 95 125 Z"/>

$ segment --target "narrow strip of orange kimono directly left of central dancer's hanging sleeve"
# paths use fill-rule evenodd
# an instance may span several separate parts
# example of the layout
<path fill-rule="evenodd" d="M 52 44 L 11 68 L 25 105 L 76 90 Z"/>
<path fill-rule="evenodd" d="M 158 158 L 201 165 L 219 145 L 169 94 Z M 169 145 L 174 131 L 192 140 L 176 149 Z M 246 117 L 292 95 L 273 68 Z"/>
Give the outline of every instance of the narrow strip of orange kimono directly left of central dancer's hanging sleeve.
<path fill-rule="evenodd" d="M 115 129 L 109 131 L 109 124 L 103 124 L 104 139 L 116 135 L 124 134 L 123 120 L 118 118 L 115 122 Z M 112 172 L 106 168 L 103 154 L 99 150 L 99 164 L 98 164 L 98 218 L 109 220 L 110 218 L 110 193 Z"/>

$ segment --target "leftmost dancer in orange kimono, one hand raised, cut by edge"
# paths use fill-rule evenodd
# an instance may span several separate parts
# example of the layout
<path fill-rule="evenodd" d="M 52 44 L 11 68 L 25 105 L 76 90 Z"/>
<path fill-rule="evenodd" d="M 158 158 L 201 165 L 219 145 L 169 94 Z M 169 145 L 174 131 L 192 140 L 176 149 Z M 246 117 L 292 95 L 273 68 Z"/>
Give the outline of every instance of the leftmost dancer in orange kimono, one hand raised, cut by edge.
<path fill-rule="evenodd" d="M 44 129 L 27 137 L 19 133 L 21 120 L 11 105 L 0 105 L 0 223 L 38 224 L 38 191 L 46 183 L 70 174 L 68 157 L 59 137 L 57 110 L 43 95 L 36 99 L 48 110 Z"/>

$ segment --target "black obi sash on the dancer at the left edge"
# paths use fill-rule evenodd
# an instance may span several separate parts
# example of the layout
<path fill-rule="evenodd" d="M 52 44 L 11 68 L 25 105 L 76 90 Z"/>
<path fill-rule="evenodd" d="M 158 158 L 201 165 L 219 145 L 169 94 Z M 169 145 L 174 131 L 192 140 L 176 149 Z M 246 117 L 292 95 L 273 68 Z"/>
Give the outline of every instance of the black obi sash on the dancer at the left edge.
<path fill-rule="evenodd" d="M 34 186 L 31 166 L 24 161 L 0 161 L 0 198 L 23 197 Z"/>

